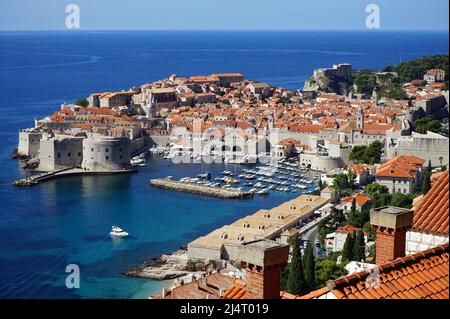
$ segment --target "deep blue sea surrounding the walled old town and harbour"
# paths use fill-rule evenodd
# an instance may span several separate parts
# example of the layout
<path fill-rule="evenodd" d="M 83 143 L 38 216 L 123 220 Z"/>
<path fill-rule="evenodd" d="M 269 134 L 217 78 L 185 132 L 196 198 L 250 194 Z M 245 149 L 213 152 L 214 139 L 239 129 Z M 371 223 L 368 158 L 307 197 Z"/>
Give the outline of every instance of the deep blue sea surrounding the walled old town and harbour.
<path fill-rule="evenodd" d="M 296 196 L 222 201 L 153 189 L 152 177 L 224 169 L 157 157 L 128 176 L 13 188 L 11 182 L 26 174 L 10 159 L 18 130 L 64 101 L 172 73 L 241 72 L 296 89 L 314 68 L 351 63 L 380 69 L 440 53 L 448 53 L 448 32 L 0 32 L 0 297 L 145 298 L 167 283 L 128 278 L 123 275 L 128 268 Z M 112 241 L 108 232 L 114 224 L 131 238 Z M 65 268 L 72 263 L 80 266 L 80 289 L 65 286 Z"/>

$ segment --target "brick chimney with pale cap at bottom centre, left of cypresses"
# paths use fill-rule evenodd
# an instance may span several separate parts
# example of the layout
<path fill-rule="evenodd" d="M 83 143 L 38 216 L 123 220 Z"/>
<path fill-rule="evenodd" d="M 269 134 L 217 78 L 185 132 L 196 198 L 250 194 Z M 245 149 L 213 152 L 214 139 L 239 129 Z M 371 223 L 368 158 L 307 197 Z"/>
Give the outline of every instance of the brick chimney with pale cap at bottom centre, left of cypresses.
<path fill-rule="evenodd" d="M 255 240 L 239 246 L 242 267 L 247 275 L 249 299 L 279 299 L 280 274 L 287 265 L 289 245 Z"/>

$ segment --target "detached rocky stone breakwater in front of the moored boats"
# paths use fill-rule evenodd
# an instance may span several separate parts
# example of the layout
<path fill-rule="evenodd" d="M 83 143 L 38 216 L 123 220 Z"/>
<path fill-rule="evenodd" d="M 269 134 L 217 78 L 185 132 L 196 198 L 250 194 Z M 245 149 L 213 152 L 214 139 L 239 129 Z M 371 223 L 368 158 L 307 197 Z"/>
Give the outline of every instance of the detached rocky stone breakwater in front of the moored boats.
<path fill-rule="evenodd" d="M 174 181 L 171 179 L 152 179 L 150 180 L 150 186 L 177 192 L 217 197 L 221 199 L 247 199 L 253 197 L 252 193 L 244 192 L 242 190 L 198 185 L 195 183 Z"/>

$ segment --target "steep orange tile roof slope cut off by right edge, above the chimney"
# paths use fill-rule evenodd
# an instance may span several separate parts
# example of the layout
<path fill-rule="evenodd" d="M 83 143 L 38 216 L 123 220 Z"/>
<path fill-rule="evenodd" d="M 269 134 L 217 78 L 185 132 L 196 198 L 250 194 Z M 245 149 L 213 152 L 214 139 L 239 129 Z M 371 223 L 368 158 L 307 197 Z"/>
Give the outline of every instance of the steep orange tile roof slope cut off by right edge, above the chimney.
<path fill-rule="evenodd" d="M 414 207 L 413 230 L 448 236 L 448 183 L 447 170 L 433 183 L 417 207 Z"/>

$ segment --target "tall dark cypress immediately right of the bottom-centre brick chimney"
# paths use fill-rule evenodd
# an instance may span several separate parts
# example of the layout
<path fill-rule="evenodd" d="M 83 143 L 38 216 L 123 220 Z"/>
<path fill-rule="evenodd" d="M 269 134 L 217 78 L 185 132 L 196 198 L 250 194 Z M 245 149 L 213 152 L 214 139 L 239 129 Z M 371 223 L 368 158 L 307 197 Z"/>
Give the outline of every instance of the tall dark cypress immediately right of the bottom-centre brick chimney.
<path fill-rule="evenodd" d="M 306 292 L 305 276 L 303 274 L 302 253 L 298 242 L 298 236 L 291 239 L 292 258 L 289 265 L 289 275 L 286 290 L 294 295 L 302 295 Z"/>

